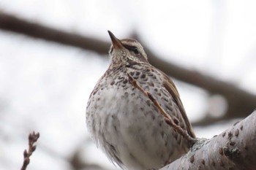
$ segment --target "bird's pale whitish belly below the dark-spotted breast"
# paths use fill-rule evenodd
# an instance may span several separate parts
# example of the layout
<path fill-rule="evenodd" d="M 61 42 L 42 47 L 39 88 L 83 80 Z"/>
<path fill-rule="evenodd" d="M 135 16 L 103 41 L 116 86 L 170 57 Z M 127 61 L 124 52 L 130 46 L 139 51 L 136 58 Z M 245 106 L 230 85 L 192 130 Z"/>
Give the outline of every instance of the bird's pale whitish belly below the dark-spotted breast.
<path fill-rule="evenodd" d="M 148 97 L 131 89 L 100 91 L 100 99 L 89 109 L 94 119 L 89 125 L 93 138 L 110 159 L 128 169 L 159 168 L 173 159 L 172 155 L 179 157 L 185 152 L 177 147 L 175 136 L 180 136 L 165 123 Z"/>

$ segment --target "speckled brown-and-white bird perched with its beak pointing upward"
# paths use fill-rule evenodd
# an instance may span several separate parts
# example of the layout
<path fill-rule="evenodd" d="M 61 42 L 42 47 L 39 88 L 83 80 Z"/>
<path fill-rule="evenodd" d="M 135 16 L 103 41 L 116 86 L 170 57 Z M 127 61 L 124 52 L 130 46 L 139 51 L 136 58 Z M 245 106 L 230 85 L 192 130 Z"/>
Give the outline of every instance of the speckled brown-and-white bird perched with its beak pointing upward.
<path fill-rule="evenodd" d="M 176 85 L 148 63 L 135 39 L 118 39 L 108 31 L 110 65 L 98 80 L 86 106 L 91 138 L 121 169 L 159 169 L 189 150 L 189 142 L 165 123 L 153 102 L 129 82 L 129 74 L 151 93 L 168 115 L 195 138 Z"/>

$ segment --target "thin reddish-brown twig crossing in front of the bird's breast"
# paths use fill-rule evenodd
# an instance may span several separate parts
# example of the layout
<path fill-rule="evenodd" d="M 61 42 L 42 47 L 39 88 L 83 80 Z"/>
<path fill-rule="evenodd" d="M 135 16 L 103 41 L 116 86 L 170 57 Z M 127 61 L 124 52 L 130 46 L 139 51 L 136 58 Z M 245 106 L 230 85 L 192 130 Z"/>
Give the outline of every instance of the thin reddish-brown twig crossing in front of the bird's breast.
<path fill-rule="evenodd" d="M 129 73 L 127 73 L 127 75 L 129 77 L 129 82 L 135 88 L 138 88 L 138 90 L 140 90 L 145 96 L 147 96 L 153 102 L 154 106 L 157 107 L 157 109 L 162 114 L 162 116 L 165 117 L 165 122 L 168 125 L 170 125 L 172 128 L 174 128 L 178 132 L 178 134 L 181 134 L 181 136 L 183 136 L 185 139 L 187 139 L 189 144 L 195 144 L 195 142 L 197 142 L 197 139 L 194 139 L 191 136 L 189 136 L 187 131 L 185 131 L 183 128 L 181 128 L 180 125 L 175 123 L 175 121 L 173 120 L 174 118 L 170 117 L 170 115 L 167 114 L 167 112 L 165 112 L 164 109 L 162 109 L 162 107 L 160 106 L 160 104 L 157 101 L 157 99 L 154 98 L 154 96 L 152 96 L 151 93 L 149 93 L 148 91 L 143 90 L 143 88 L 141 88 L 140 85 L 138 85 L 138 82 Z"/>

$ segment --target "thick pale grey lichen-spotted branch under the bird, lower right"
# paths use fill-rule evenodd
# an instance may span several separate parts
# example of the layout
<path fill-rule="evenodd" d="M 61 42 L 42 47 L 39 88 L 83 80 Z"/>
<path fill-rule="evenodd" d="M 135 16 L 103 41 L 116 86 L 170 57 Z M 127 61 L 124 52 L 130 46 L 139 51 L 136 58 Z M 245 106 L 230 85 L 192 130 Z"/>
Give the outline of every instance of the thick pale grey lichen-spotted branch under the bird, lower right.
<path fill-rule="evenodd" d="M 256 169 L 256 111 L 222 134 L 202 139 L 178 160 L 161 170 Z"/>

